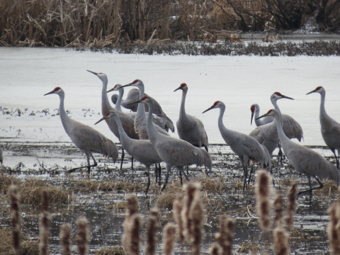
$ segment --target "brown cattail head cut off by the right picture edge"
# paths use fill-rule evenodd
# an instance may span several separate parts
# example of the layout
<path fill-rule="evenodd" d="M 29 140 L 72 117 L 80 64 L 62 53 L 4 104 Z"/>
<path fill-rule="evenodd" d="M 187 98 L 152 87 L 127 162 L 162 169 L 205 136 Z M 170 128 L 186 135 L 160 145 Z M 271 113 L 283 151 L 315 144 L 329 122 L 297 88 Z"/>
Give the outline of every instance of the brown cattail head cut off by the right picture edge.
<path fill-rule="evenodd" d="M 336 231 L 337 225 L 339 225 L 339 203 L 333 203 L 329 206 L 329 223 L 328 223 L 328 239 L 331 254 L 340 254 L 340 236 Z"/>

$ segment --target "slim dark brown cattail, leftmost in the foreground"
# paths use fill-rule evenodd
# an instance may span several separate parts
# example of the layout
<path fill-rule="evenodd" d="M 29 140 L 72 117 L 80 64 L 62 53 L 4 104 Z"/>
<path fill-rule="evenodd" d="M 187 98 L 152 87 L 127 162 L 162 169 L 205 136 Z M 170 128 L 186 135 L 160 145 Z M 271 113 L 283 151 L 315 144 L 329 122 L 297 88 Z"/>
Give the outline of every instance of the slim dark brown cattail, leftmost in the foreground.
<path fill-rule="evenodd" d="M 21 229 L 19 225 L 19 200 L 18 188 L 15 185 L 8 187 L 9 200 L 11 203 L 12 232 L 13 232 L 13 249 L 16 254 L 20 251 Z"/>

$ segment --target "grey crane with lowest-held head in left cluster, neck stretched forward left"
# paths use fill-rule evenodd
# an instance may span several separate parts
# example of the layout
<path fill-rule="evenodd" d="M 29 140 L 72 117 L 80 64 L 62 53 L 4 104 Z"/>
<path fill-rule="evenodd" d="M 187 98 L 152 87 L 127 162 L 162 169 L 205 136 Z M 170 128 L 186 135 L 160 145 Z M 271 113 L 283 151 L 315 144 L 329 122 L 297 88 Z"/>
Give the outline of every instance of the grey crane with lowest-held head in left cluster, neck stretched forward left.
<path fill-rule="evenodd" d="M 122 123 L 120 123 L 117 113 L 114 111 L 109 111 L 103 118 L 101 118 L 101 120 L 97 121 L 96 124 L 108 118 L 115 119 L 115 123 L 118 125 L 120 142 L 122 143 L 124 149 L 128 152 L 128 154 L 131 155 L 131 157 L 137 160 L 137 162 L 144 164 L 147 168 L 147 191 L 149 191 L 150 166 L 155 164 L 157 167 L 157 163 L 162 162 L 162 159 L 159 157 L 156 149 L 154 149 L 149 140 L 135 140 L 128 137 L 123 129 Z M 145 191 L 145 195 L 147 195 L 147 191 Z"/>

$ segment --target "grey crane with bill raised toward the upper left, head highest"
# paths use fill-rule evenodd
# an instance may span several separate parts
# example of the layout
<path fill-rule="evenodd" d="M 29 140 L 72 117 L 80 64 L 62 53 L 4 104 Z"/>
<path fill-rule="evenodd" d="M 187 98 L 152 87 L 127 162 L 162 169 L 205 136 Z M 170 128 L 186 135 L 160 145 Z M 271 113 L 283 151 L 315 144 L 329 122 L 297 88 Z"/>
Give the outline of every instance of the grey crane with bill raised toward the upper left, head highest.
<path fill-rule="evenodd" d="M 115 109 L 112 108 L 112 106 L 108 102 L 108 94 L 106 92 L 108 89 L 108 77 L 106 76 L 106 74 L 96 73 L 96 72 L 92 72 L 89 70 L 87 71 L 91 72 L 91 74 L 96 75 L 96 77 L 101 79 L 101 81 L 103 82 L 103 88 L 101 89 L 101 114 L 105 116 L 106 113 L 108 113 L 108 111 L 115 111 Z M 129 115 L 123 112 L 117 112 L 117 114 L 120 118 L 120 122 L 123 123 L 123 128 L 126 134 L 132 139 L 140 139 L 140 137 L 138 137 L 137 132 L 135 131 L 134 120 L 130 118 Z M 118 127 L 115 121 L 113 119 L 109 119 L 105 121 L 106 121 L 106 124 L 108 124 L 108 128 L 110 128 L 111 132 L 113 132 L 113 134 L 120 140 Z M 124 149 L 122 147 L 122 162 L 120 163 L 120 170 L 122 170 L 123 168 L 123 160 L 124 160 Z M 133 158 L 132 158 L 131 165 L 133 169 Z"/>

